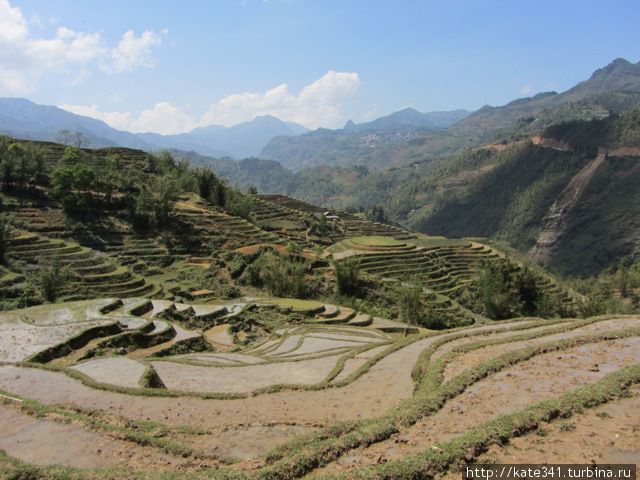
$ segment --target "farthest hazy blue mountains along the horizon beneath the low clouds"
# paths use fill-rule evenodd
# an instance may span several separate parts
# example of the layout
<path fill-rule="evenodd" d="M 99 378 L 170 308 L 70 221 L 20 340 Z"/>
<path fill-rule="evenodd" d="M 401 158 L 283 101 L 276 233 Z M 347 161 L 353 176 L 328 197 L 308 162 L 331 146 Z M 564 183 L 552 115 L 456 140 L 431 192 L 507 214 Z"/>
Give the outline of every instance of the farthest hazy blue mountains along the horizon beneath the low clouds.
<path fill-rule="evenodd" d="M 421 113 L 413 108 L 406 108 L 371 122 L 355 124 L 349 121 L 343 129 L 335 132 L 345 132 L 346 135 L 375 132 L 376 135 L 402 139 L 411 132 L 450 126 L 467 115 L 469 112 L 466 110 Z M 91 147 L 124 146 L 147 151 L 174 149 L 234 159 L 262 156 L 264 148 L 273 139 L 295 137 L 309 132 L 302 125 L 263 115 L 232 127 L 209 125 L 178 135 L 136 134 L 114 129 L 101 120 L 76 115 L 55 106 L 37 105 L 24 98 L 0 98 L 0 134 L 56 141 L 62 139 L 61 130 L 81 133 Z M 326 129 L 318 131 L 334 132 Z"/>

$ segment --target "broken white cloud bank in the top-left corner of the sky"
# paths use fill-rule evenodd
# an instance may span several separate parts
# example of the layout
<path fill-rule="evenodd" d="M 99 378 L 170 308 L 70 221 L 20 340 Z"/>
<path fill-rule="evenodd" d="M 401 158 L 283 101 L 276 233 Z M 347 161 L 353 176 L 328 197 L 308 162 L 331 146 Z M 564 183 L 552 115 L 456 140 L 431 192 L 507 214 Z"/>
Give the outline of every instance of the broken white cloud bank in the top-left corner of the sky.
<path fill-rule="evenodd" d="M 128 31 L 113 49 L 104 45 L 99 32 L 76 32 L 64 26 L 52 38 L 34 38 L 22 11 L 9 0 L 0 0 L 0 93 L 32 91 L 51 72 L 70 76 L 74 84 L 88 78 L 89 68 L 96 65 L 114 73 L 152 67 L 153 49 L 164 34 L 146 31 L 136 37 Z"/>

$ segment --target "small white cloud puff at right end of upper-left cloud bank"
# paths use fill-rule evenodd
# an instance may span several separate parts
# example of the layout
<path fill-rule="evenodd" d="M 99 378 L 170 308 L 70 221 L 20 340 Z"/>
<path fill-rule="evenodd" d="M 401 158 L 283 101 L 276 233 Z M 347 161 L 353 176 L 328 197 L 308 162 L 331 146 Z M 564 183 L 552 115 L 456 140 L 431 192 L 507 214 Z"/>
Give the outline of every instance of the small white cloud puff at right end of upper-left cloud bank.
<path fill-rule="evenodd" d="M 153 49 L 162 44 L 162 36 L 167 34 L 167 30 L 160 32 L 160 35 L 145 31 L 136 37 L 133 30 L 129 30 L 122 35 L 118 46 L 111 50 L 111 64 L 103 65 L 107 72 L 129 72 L 139 67 L 154 67 L 156 59 L 153 57 Z"/>

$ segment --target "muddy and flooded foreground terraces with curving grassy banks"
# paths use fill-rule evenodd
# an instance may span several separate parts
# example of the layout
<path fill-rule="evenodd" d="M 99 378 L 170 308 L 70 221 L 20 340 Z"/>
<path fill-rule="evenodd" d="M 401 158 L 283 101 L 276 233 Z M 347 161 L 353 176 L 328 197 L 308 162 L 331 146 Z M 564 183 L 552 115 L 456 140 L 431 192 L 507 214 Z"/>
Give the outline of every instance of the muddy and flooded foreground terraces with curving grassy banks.
<path fill-rule="evenodd" d="M 247 309 L 264 315 L 249 343 L 237 328 Z M 276 312 L 292 321 L 265 330 Z M 289 299 L 106 299 L 1 314 L 11 333 L 0 351 L 22 353 L 2 354 L 10 456 L 0 472 L 58 463 L 71 478 L 432 478 L 463 461 L 534 460 L 527 449 L 540 445 L 560 460 L 577 445 L 568 458 L 640 462 L 630 409 L 640 318 L 407 333 L 383 319 L 347 323 L 359 316 Z M 61 467 L 42 468 L 62 478 Z"/>

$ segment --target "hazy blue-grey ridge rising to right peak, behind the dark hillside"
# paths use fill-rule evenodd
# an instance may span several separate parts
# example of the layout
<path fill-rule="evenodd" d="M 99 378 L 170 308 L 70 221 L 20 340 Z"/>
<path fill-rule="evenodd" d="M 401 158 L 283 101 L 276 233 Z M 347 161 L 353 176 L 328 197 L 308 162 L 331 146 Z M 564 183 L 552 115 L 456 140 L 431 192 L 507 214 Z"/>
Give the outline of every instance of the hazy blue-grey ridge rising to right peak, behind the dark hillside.
<path fill-rule="evenodd" d="M 378 138 L 375 132 L 359 131 L 357 125 L 349 124 L 348 128 L 333 132 L 316 130 L 297 137 L 274 138 L 260 156 L 293 170 L 320 164 L 347 167 L 364 164 L 371 169 L 408 165 L 444 158 L 522 131 L 543 130 L 556 121 L 607 115 L 608 105 L 601 105 L 603 99 L 598 97 L 611 92 L 621 95 L 640 92 L 640 62 L 616 59 L 563 93 L 543 92 L 504 106 L 484 106 L 444 130 L 414 128 L 400 142 L 397 137 Z M 372 137 L 374 142 L 370 141 Z"/>

